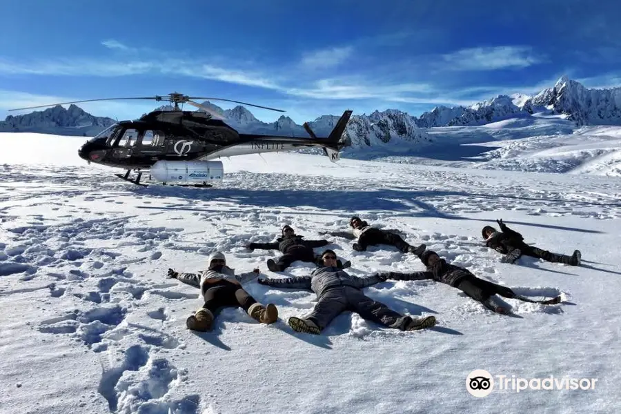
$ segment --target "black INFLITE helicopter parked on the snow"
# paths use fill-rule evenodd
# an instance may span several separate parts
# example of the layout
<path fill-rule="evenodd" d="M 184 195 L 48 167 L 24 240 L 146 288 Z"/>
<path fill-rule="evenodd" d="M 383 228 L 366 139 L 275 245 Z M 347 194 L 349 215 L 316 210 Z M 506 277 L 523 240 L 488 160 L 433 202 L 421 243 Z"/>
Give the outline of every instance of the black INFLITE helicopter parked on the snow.
<path fill-rule="evenodd" d="M 340 158 L 339 151 L 344 147 L 341 137 L 352 113 L 351 110 L 346 110 L 328 137 L 317 137 L 305 122 L 304 129 L 311 137 L 308 139 L 240 134 L 226 124 L 226 118 L 195 100 L 228 101 L 277 112 L 285 112 L 284 110 L 231 99 L 190 97 L 179 92 L 155 97 L 86 99 L 11 110 L 120 99 L 155 99 L 169 101 L 173 106 L 171 110 L 153 110 L 139 119 L 112 124 L 88 139 L 79 148 L 78 155 L 88 161 L 88 164 L 92 162 L 123 168 L 127 170 L 124 175 L 115 175 L 141 186 L 146 186 L 140 182 L 142 175 L 149 174 L 151 179 L 164 185 L 210 187 L 210 182 L 221 181 L 224 177 L 222 162 L 215 159 L 235 155 L 318 147 L 323 148 L 324 154 L 336 162 Z M 182 110 L 179 108 L 180 103 L 188 103 L 199 110 Z M 136 177 L 130 177 L 132 172 Z"/>

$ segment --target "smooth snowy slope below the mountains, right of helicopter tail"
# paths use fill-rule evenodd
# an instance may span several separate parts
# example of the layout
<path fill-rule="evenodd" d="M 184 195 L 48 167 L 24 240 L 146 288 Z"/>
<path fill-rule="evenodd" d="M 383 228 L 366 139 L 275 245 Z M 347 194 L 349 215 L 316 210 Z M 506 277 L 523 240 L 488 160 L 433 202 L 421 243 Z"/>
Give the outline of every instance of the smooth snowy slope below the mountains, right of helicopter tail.
<path fill-rule="evenodd" d="M 483 126 L 424 128 L 433 144 L 376 160 L 530 172 L 621 176 L 621 128 L 575 126 L 560 115 L 535 114 Z M 364 158 L 373 152 L 346 150 Z M 404 157 L 403 155 L 408 155 Z"/>

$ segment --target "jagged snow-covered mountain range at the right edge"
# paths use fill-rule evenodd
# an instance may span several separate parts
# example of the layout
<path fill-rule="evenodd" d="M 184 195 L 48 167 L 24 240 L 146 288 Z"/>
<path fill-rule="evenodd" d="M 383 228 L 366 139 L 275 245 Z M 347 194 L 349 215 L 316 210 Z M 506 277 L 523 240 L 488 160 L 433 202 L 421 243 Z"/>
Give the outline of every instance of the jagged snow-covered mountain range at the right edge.
<path fill-rule="evenodd" d="M 438 106 L 424 112 L 416 124 L 422 128 L 437 126 L 476 126 L 534 112 L 565 115 L 576 125 L 621 125 L 621 87 L 587 89 L 578 81 L 560 78 L 553 88 L 537 95 L 498 95 L 472 106 Z"/>

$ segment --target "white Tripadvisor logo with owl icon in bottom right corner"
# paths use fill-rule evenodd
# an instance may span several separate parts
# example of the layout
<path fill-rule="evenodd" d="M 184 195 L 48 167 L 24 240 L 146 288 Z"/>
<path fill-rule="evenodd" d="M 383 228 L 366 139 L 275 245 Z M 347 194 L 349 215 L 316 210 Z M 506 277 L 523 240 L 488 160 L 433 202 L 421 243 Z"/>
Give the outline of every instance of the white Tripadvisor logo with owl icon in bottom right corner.
<path fill-rule="evenodd" d="M 466 390 L 475 397 L 487 397 L 496 388 L 500 391 L 525 390 L 594 390 L 597 378 L 570 378 L 549 375 L 544 378 L 520 378 L 515 375 L 491 375 L 475 369 L 466 377 Z"/>

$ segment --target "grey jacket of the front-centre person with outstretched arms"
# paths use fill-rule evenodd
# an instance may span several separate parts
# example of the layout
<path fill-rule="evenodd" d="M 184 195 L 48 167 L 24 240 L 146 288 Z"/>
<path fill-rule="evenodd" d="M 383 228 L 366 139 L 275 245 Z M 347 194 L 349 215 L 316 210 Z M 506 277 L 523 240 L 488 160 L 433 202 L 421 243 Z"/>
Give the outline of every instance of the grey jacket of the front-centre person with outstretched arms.
<path fill-rule="evenodd" d="M 379 275 L 371 277 L 357 277 L 333 266 L 319 267 L 313 270 L 311 276 L 288 277 L 286 279 L 262 279 L 262 284 L 277 288 L 310 289 L 321 297 L 327 290 L 339 286 L 351 286 L 362 289 L 384 282 L 385 278 Z"/>

